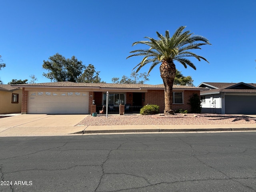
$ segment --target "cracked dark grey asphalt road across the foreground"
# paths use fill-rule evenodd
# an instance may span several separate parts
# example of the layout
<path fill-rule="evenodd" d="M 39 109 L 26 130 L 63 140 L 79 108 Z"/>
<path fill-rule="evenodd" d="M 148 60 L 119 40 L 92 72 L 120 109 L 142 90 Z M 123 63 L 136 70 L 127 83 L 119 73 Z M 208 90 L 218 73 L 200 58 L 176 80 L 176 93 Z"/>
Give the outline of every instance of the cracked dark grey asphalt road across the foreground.
<path fill-rule="evenodd" d="M 1 192 L 255 192 L 256 132 L 1 137 L 0 176 Z"/>

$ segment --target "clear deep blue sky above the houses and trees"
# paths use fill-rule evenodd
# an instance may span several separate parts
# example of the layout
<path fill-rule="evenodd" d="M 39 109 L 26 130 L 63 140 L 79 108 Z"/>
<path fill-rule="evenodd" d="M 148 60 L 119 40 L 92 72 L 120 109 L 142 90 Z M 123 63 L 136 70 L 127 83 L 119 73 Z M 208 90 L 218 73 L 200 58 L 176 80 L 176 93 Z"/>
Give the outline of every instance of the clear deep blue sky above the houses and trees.
<path fill-rule="evenodd" d="M 0 0 L 0 55 L 6 67 L 0 70 L 4 84 L 12 79 L 50 82 L 42 76 L 43 60 L 57 52 L 73 55 L 86 66 L 93 64 L 100 78 L 130 76 L 142 57 L 129 58 L 140 48 L 132 43 L 156 31 L 173 34 L 187 26 L 194 34 L 210 40 L 196 53 L 207 62 L 192 60 L 197 67 L 176 68 L 201 82 L 256 83 L 255 0 Z M 147 72 L 144 66 L 140 72 Z M 159 66 L 147 84 L 162 84 Z"/>

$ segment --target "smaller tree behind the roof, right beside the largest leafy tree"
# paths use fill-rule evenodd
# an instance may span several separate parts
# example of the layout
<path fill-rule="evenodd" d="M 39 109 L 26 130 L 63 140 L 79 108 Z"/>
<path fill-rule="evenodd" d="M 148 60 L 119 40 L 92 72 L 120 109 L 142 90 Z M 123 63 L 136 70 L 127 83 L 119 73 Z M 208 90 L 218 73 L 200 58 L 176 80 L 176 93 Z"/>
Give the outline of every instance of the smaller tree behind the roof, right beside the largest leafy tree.
<path fill-rule="evenodd" d="M 101 81 L 99 77 L 100 71 L 96 71 L 92 64 L 85 67 L 85 70 L 81 76 L 78 77 L 77 82 L 81 83 L 106 83 Z"/>

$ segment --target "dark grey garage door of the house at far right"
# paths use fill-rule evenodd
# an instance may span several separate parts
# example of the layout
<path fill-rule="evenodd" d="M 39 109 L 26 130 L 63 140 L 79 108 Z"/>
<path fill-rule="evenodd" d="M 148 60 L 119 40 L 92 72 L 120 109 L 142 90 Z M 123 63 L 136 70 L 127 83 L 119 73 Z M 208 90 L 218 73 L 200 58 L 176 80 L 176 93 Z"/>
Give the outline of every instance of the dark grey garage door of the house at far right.
<path fill-rule="evenodd" d="M 256 114 L 256 96 L 226 95 L 226 114 Z"/>

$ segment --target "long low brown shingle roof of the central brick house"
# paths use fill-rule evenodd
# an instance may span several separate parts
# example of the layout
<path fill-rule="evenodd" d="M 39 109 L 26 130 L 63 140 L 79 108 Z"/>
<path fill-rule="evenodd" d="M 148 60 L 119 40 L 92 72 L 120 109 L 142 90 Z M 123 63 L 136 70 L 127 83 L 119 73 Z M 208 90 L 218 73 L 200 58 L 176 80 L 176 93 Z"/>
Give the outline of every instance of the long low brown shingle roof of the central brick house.
<path fill-rule="evenodd" d="M 13 87 L 84 87 L 84 88 L 116 88 L 116 89 L 163 89 L 164 84 L 114 84 L 114 83 L 75 83 L 75 82 L 49 82 L 34 84 L 18 84 Z M 194 86 L 173 85 L 178 89 L 202 89 Z"/>

